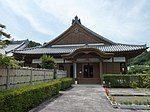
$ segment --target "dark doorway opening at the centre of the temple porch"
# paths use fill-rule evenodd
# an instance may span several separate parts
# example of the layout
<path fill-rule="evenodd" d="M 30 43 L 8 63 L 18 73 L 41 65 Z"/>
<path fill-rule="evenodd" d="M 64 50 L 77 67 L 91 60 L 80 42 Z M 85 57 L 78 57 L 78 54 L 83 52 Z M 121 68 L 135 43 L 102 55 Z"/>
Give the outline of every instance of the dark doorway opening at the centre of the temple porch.
<path fill-rule="evenodd" d="M 84 65 L 83 71 L 84 78 L 93 78 L 93 65 L 90 65 L 89 63 L 87 65 Z"/>

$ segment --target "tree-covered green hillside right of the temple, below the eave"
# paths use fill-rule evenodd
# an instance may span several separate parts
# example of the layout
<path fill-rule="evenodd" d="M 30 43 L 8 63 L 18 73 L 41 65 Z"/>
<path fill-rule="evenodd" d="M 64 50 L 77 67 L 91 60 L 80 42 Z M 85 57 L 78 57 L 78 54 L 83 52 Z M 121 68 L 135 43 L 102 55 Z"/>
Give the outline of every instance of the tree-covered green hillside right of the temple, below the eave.
<path fill-rule="evenodd" d="M 128 65 L 144 65 L 150 61 L 150 52 L 144 52 L 129 60 Z"/>

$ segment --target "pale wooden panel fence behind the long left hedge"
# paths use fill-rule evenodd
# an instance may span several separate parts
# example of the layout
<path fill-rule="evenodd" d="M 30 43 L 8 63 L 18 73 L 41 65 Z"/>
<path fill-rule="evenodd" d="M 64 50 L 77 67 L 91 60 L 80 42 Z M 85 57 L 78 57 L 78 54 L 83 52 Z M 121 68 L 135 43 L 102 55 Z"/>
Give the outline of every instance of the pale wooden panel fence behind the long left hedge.
<path fill-rule="evenodd" d="M 47 82 L 54 78 L 66 77 L 67 72 L 62 70 L 37 68 L 0 68 L 0 91 L 17 88 L 19 86 Z"/>

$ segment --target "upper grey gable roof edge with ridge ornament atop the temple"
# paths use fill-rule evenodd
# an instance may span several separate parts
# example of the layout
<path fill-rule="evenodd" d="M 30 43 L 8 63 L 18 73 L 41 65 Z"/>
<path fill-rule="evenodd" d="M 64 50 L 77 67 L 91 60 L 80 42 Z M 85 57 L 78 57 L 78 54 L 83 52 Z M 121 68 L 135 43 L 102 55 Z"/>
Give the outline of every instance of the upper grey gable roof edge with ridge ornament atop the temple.
<path fill-rule="evenodd" d="M 72 20 L 72 25 L 66 30 L 64 31 L 62 34 L 60 34 L 58 37 L 56 37 L 55 39 L 53 39 L 52 41 L 48 42 L 47 44 L 45 44 L 43 47 L 47 47 L 47 46 L 51 46 L 53 45 L 54 42 L 62 39 L 63 35 L 65 35 L 68 31 L 70 31 L 75 25 L 79 25 L 81 28 L 83 28 L 86 32 L 88 32 L 89 34 L 93 35 L 95 38 L 97 38 L 97 40 L 102 40 L 108 44 L 116 44 L 115 42 L 93 32 L 92 30 L 88 29 L 87 27 L 85 27 L 84 25 L 81 24 L 80 19 L 78 19 L 78 17 L 76 16 L 75 19 Z"/>

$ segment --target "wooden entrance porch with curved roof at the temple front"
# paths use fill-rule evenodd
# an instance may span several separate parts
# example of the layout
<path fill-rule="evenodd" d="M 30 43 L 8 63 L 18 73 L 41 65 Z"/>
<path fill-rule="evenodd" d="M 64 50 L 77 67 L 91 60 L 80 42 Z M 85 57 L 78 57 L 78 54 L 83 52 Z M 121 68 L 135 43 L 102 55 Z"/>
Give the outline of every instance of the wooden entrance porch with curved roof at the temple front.
<path fill-rule="evenodd" d="M 110 59 L 113 53 L 105 53 L 95 48 L 80 48 L 71 54 L 63 55 L 70 61 L 69 77 L 78 84 L 101 84 L 103 74 L 103 59 Z"/>

